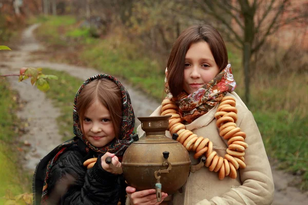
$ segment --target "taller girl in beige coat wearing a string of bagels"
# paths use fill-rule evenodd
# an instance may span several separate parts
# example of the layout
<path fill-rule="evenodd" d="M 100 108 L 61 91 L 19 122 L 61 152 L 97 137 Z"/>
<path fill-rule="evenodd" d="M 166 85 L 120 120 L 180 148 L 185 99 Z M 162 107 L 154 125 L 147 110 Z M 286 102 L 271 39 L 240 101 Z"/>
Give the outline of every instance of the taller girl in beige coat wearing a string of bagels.
<path fill-rule="evenodd" d="M 171 115 L 166 135 L 179 135 L 192 163 L 206 156 L 205 167 L 190 173 L 181 193 L 172 195 L 173 204 L 271 204 L 274 183 L 262 138 L 234 92 L 226 47 L 216 29 L 192 26 L 178 37 L 165 87 L 167 97 L 151 116 Z M 137 132 L 144 135 L 140 126 Z M 126 192 L 130 204 L 154 195 L 132 187 Z"/>

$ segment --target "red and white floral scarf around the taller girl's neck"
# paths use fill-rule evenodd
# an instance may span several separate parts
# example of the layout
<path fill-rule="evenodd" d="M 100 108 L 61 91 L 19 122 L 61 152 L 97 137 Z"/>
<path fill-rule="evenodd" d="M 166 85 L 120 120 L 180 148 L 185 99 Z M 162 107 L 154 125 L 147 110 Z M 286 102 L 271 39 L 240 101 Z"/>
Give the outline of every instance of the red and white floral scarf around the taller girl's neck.
<path fill-rule="evenodd" d="M 187 121 L 188 123 L 214 108 L 227 92 L 232 92 L 236 88 L 230 64 L 196 92 L 187 94 L 182 91 L 176 97 L 172 96 L 169 91 L 167 69 L 165 73 L 167 98 L 176 103 L 182 121 Z"/>

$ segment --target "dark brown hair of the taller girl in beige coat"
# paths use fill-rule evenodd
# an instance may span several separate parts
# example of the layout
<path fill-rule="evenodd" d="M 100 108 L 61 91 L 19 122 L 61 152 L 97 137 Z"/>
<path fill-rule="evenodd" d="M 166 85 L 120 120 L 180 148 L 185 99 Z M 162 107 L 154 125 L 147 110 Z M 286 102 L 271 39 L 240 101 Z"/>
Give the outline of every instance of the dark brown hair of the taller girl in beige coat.
<path fill-rule="evenodd" d="M 189 47 L 200 41 L 208 44 L 215 62 L 222 71 L 228 64 L 228 54 L 219 32 L 210 25 L 191 26 L 185 29 L 172 47 L 167 68 L 170 93 L 178 96 L 183 90 L 185 55 Z"/>

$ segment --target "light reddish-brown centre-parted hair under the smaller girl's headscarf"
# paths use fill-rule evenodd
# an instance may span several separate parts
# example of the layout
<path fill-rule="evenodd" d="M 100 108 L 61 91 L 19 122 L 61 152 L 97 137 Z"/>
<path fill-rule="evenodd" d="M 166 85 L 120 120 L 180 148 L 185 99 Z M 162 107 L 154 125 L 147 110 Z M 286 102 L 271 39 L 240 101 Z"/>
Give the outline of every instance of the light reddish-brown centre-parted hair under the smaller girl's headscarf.
<path fill-rule="evenodd" d="M 110 118 L 113 124 L 115 137 L 119 139 L 122 123 L 122 94 L 119 86 L 113 81 L 100 78 L 95 79 L 84 86 L 77 100 L 76 110 L 79 115 L 79 123 L 83 130 L 83 119 L 86 109 L 89 108 L 96 100 L 107 108 L 110 112 Z"/>

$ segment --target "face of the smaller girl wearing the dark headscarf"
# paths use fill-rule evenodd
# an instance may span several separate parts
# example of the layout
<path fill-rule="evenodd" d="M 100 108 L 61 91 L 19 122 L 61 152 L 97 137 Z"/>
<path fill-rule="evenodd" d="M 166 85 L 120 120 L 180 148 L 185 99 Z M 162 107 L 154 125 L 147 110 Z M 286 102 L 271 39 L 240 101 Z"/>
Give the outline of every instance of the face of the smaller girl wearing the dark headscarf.
<path fill-rule="evenodd" d="M 97 148 L 104 147 L 115 137 L 110 112 L 98 100 L 86 110 L 82 123 L 85 138 Z"/>

